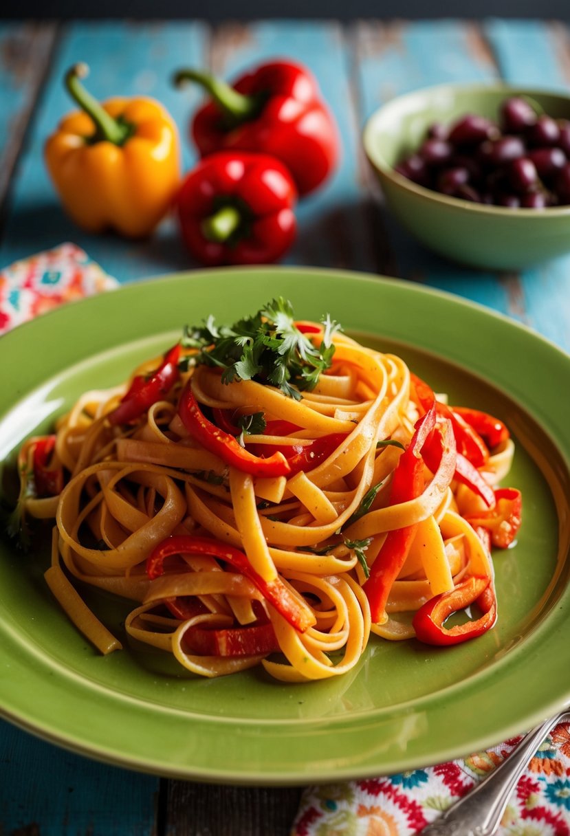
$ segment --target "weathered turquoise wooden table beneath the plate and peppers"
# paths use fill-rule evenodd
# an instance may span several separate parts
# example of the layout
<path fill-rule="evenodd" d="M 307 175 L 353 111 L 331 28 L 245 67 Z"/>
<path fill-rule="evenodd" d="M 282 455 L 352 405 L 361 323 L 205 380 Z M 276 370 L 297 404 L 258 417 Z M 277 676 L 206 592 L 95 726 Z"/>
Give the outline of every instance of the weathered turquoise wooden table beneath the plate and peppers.
<path fill-rule="evenodd" d="M 380 103 L 429 84 L 502 78 L 566 89 L 570 32 L 562 23 L 3 24 L 0 267 L 64 241 L 84 247 L 121 282 L 196 267 L 169 222 L 150 242 L 131 243 L 86 235 L 64 217 L 43 167 L 42 145 L 69 110 L 62 77 L 70 64 L 89 64 L 89 86 L 99 98 L 150 94 L 160 99 L 185 137 L 189 168 L 196 158 L 186 125 L 199 94 L 173 89 L 173 70 L 209 65 L 231 78 L 280 54 L 313 69 L 344 144 L 337 176 L 300 206 L 298 243 L 284 262 L 380 273 L 457 293 L 570 349 L 570 257 L 522 273 L 477 272 L 435 257 L 384 214 L 359 140 L 364 120 Z M 142 775 L 0 725 L 3 836 L 280 836 L 288 833 L 299 793 Z"/>

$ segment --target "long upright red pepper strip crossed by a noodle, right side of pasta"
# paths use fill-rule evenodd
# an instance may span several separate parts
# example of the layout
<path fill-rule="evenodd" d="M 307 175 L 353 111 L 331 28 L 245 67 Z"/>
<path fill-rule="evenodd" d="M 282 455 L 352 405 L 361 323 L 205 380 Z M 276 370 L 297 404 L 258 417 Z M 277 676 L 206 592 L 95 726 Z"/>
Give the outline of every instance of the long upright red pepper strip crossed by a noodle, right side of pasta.
<path fill-rule="evenodd" d="M 410 446 L 402 453 L 394 470 L 389 497 L 390 505 L 415 499 L 424 490 L 424 461 L 421 457 L 421 448 L 434 430 L 435 408 L 432 406 L 415 426 L 415 434 L 410 441 Z M 379 623 L 384 618 L 389 591 L 405 563 L 417 528 L 417 524 L 414 524 L 389 531 L 372 564 L 369 579 L 364 583 L 363 589 L 369 599 L 370 615 L 374 623 Z"/>

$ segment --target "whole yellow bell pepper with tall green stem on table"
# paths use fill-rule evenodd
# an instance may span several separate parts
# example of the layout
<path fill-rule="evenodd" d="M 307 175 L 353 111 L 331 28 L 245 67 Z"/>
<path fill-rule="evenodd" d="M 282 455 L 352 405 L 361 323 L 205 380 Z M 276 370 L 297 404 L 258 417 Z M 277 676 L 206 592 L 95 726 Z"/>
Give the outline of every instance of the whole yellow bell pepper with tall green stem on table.
<path fill-rule="evenodd" d="M 65 85 L 81 110 L 64 117 L 44 148 L 66 212 L 88 232 L 145 237 L 170 209 L 181 179 L 178 130 L 155 99 L 99 104 L 75 64 Z"/>

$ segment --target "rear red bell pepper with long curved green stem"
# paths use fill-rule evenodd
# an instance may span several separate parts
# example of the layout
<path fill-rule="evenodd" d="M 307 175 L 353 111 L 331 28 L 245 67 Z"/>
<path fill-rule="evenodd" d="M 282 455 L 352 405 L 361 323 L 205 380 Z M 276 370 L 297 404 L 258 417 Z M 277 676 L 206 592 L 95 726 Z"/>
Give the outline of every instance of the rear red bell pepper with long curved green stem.
<path fill-rule="evenodd" d="M 176 84 L 187 81 L 201 84 L 211 97 L 191 126 L 202 156 L 222 149 L 271 154 L 291 171 L 300 195 L 323 183 L 337 165 L 336 125 L 301 64 L 262 64 L 232 86 L 194 69 L 176 73 Z"/>

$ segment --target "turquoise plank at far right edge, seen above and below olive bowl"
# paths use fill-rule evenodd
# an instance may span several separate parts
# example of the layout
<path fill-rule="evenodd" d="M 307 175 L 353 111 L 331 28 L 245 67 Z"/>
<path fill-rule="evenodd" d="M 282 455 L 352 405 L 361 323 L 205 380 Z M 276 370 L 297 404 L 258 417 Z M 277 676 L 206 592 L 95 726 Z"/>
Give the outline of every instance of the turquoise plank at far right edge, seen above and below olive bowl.
<path fill-rule="evenodd" d="M 567 75 L 560 63 L 556 31 L 532 21 L 488 23 L 486 36 L 502 77 L 511 84 L 567 91 Z M 562 27 L 559 33 L 566 38 L 569 34 Z M 570 256 L 525 270 L 520 275 L 526 323 L 566 351 L 570 350 L 568 276 Z"/>

